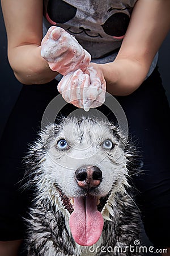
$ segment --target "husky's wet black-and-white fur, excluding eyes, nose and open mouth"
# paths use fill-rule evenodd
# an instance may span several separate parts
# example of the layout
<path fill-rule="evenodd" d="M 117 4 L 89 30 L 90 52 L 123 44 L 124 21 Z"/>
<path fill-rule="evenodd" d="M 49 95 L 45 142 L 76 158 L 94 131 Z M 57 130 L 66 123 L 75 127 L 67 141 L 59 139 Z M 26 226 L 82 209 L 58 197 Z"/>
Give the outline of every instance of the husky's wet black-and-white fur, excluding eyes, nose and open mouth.
<path fill-rule="evenodd" d="M 67 154 L 72 158 L 74 155 L 77 157 L 77 154 L 87 154 L 86 159 L 67 163 L 64 152 L 56 147 L 60 138 L 66 138 L 73 146 Z M 101 143 L 108 138 L 116 146 L 112 151 L 103 152 Z M 103 253 L 100 249 L 97 253 L 96 250 L 91 253 L 89 247 L 75 243 L 69 228 L 70 213 L 59 196 L 59 192 L 67 197 L 83 195 L 84 192 L 79 189 L 74 179 L 75 170 L 84 164 L 96 165 L 101 156 L 106 154 L 97 165 L 103 172 L 103 181 L 95 193 L 104 196 L 110 191 L 110 195 L 102 210 L 103 233 L 95 246 L 104 246 L 106 249 L 109 246 L 113 249 L 115 246 L 134 246 L 134 241 L 139 240 L 141 220 L 139 210 L 131 199 L 128 179 L 137 170 L 134 164 L 134 148 L 124 141 L 124 135 L 120 134 L 118 127 L 91 118 L 62 119 L 59 125 L 50 125 L 41 133 L 41 138 L 31 147 L 27 158 L 27 175 L 30 177 L 28 187 L 35 189 L 35 199 L 28 220 L 28 256 L 142 255 L 130 251 Z M 87 152 L 85 149 L 83 153 L 81 150 L 74 152 L 74 148 L 81 144 L 87 148 Z M 89 145 L 93 145 L 92 149 Z M 95 150 L 98 150 L 97 154 L 91 158 L 90 154 Z M 60 166 L 65 162 L 70 164 L 70 170 Z"/>

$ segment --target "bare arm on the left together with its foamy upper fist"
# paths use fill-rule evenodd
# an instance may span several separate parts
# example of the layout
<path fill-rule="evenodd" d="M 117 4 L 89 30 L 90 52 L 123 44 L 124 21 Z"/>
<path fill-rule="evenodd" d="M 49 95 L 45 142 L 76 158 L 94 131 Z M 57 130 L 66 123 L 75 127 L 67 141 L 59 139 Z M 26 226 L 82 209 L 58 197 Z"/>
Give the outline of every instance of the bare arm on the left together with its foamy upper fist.
<path fill-rule="evenodd" d="M 8 60 L 20 82 L 44 84 L 54 79 L 57 72 L 66 75 L 75 71 L 77 65 L 86 70 L 90 54 L 65 30 L 50 27 L 42 40 L 42 0 L 18 0 L 15 4 L 11 0 L 1 2 L 8 38 Z"/>

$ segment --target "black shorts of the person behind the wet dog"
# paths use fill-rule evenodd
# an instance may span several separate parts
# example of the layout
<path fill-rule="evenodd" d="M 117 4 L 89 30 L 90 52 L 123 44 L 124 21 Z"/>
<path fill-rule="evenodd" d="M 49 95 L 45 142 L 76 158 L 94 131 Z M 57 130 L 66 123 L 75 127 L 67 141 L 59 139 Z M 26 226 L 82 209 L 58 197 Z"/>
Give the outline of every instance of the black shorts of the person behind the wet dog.
<path fill-rule="evenodd" d="M 25 182 L 22 161 L 28 144 L 37 138 L 46 106 L 57 94 L 56 80 L 45 85 L 23 85 L 8 119 L 0 145 L 0 241 L 23 237 L 22 216 L 31 195 L 20 188 Z M 142 156 L 145 171 L 134 176 L 133 182 L 139 191 L 138 205 L 147 236 L 155 246 L 170 247 L 170 112 L 157 68 L 134 93 L 116 98 Z M 62 114 L 74 109 L 67 104 Z"/>

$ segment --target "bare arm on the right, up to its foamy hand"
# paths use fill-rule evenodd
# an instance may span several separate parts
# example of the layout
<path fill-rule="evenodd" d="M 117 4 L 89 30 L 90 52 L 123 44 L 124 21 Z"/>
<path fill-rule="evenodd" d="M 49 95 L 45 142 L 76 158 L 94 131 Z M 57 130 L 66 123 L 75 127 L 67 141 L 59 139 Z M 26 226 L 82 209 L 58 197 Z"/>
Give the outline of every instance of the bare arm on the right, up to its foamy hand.
<path fill-rule="evenodd" d="M 113 95 L 128 95 L 145 80 L 170 27 L 169 0 L 138 0 L 116 60 L 100 64 Z"/>

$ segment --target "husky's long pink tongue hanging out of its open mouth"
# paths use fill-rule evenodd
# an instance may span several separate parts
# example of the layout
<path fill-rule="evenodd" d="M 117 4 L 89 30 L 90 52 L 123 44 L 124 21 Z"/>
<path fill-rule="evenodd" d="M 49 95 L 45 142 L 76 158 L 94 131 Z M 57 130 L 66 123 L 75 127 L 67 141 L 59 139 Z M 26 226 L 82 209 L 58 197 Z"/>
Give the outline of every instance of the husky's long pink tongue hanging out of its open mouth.
<path fill-rule="evenodd" d="M 70 229 L 79 245 L 91 246 L 96 243 L 103 230 L 103 217 L 97 210 L 96 197 L 75 197 L 74 212 L 70 216 Z"/>

